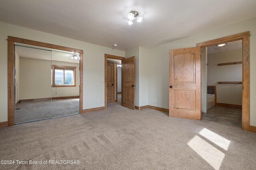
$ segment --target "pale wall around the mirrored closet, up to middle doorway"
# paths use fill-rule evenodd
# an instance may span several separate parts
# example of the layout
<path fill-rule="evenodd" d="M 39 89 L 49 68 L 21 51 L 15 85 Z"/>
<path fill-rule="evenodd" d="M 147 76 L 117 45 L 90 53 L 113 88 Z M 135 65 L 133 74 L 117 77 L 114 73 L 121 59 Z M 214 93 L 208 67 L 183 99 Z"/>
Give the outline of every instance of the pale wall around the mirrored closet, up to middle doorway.
<path fill-rule="evenodd" d="M 0 122 L 7 121 L 7 41 L 8 35 L 31 39 L 44 43 L 73 47 L 84 51 L 84 79 L 83 79 L 83 109 L 102 107 L 104 103 L 104 54 L 118 55 L 124 57 L 124 51 L 114 50 L 108 47 L 102 47 L 83 41 L 78 41 L 50 33 L 44 33 L 33 29 L 19 27 L 8 23 L 0 22 Z M 97 100 L 100 103 L 97 104 Z"/>

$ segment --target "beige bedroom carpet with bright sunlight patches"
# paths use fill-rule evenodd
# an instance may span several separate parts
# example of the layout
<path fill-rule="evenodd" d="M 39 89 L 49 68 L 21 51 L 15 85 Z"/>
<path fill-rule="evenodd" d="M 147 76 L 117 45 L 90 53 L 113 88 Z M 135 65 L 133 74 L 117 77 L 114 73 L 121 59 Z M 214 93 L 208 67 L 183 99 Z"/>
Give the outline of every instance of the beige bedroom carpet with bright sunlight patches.
<path fill-rule="evenodd" d="M 0 169 L 256 169 L 256 133 L 152 109 L 108 109 L 0 129 L 0 160 L 80 164 L 0 164 Z"/>

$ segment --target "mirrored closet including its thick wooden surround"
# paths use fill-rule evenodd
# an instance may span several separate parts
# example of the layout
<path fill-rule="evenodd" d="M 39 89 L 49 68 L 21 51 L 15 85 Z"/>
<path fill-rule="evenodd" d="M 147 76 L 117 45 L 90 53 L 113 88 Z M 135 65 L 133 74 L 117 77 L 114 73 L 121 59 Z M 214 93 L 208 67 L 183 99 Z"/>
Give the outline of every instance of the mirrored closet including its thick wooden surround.
<path fill-rule="evenodd" d="M 13 126 L 14 123 L 15 124 L 24 123 L 28 121 L 36 121 L 39 119 L 49 119 L 49 118 L 63 117 L 66 115 L 82 113 L 82 109 L 83 109 L 82 108 L 82 102 L 83 102 L 82 100 L 83 99 L 82 97 L 83 51 L 82 50 L 63 47 L 59 45 L 52 45 L 48 43 L 42 43 L 38 41 L 32 41 L 28 39 L 22 39 L 18 37 L 11 37 L 11 36 L 8 36 L 7 40 L 8 40 L 8 75 L 9 75 L 8 76 L 8 126 Z M 22 49 L 20 52 L 19 50 L 15 51 L 15 48 L 18 48 L 18 47 L 27 48 L 27 49 L 26 50 L 23 49 L 23 52 L 22 52 Z M 27 54 L 27 56 L 25 57 L 19 57 L 18 60 L 19 60 L 20 68 L 17 69 L 17 65 L 15 64 L 18 64 L 16 63 L 17 62 L 16 57 L 18 57 L 19 55 L 18 53 L 20 53 L 20 56 L 22 56 L 22 53 L 29 51 L 28 48 L 34 49 L 34 50 L 39 49 L 41 52 L 47 51 L 48 53 L 50 53 L 50 57 L 48 55 L 41 56 L 41 57 L 46 57 L 46 59 L 44 58 L 44 60 L 43 58 L 40 58 L 40 59 L 35 58 L 35 56 L 38 57 L 39 53 L 41 53 L 38 51 L 36 51 L 33 54 L 31 53 Z M 30 57 L 28 57 L 28 55 L 30 55 Z M 74 58 L 80 57 L 80 62 L 73 63 L 73 64 L 76 64 L 76 66 L 68 66 L 67 64 L 64 64 L 64 63 L 72 63 L 72 62 L 60 60 L 60 59 L 64 59 L 65 55 L 72 55 L 71 57 L 74 57 Z M 73 55 L 76 55 L 76 57 Z M 31 56 L 34 56 L 34 58 Z M 66 59 L 69 59 L 69 57 L 67 57 Z M 44 64 L 46 63 L 46 65 L 49 66 L 49 69 L 47 66 L 44 67 L 40 63 L 38 64 L 38 62 L 35 62 L 35 60 L 42 60 Z M 27 61 L 31 61 L 31 62 L 27 62 Z M 32 64 L 29 64 L 29 63 L 32 63 Z M 41 72 L 38 72 L 39 70 L 41 70 Z M 55 74 L 54 71 L 58 72 L 58 75 Z M 38 72 L 38 74 L 36 74 L 36 72 Z M 41 75 L 42 72 L 47 72 L 48 73 L 47 76 Z M 14 77 L 14 75 L 16 77 Z M 17 78 L 17 76 L 19 77 Z M 49 78 L 44 79 L 46 77 L 49 77 Z M 31 80 L 28 80 L 29 78 Z M 49 85 L 45 86 L 44 85 L 45 82 L 49 82 L 48 83 Z M 33 85 L 33 83 L 38 83 L 38 84 Z M 57 90 L 54 89 L 54 88 L 57 88 L 56 86 L 58 86 Z M 64 88 L 67 86 L 78 88 L 78 92 L 76 91 L 76 96 L 60 95 L 62 94 L 62 91 L 64 90 Z M 22 89 L 25 89 L 25 90 L 21 91 Z M 43 92 L 43 89 L 46 90 L 45 94 Z M 37 93 L 37 91 L 39 91 L 39 93 L 41 92 L 40 94 L 41 96 L 39 95 L 39 98 L 37 97 L 39 94 Z M 55 95 L 53 95 L 53 92 L 55 92 Z M 49 93 L 50 93 L 50 96 L 49 96 Z M 60 104 L 60 102 L 56 102 L 57 100 L 58 101 L 62 100 L 62 104 Z M 65 103 L 64 100 L 74 100 L 73 101 L 74 106 L 78 106 L 76 107 L 77 110 L 74 113 L 73 111 L 72 113 L 70 113 L 69 109 L 67 108 L 65 109 L 65 107 L 61 108 L 60 105 L 62 106 L 66 105 L 64 104 Z M 27 108 L 23 107 L 22 106 L 23 102 L 24 103 L 28 102 L 27 104 L 29 105 L 29 107 Z M 38 102 L 38 105 L 35 105 L 36 102 Z M 42 106 L 40 102 L 45 102 L 45 103 Z M 47 106 L 47 107 L 44 107 L 44 106 Z M 60 111 L 60 108 L 62 109 L 61 111 Z M 22 110 L 23 111 L 25 110 L 25 111 L 21 113 Z M 42 110 L 44 110 L 46 113 L 42 114 L 41 117 L 39 116 L 40 114 L 34 114 L 34 113 L 40 113 L 40 111 Z M 15 114 L 15 111 L 18 111 L 17 114 Z M 26 114 L 26 112 L 30 114 Z M 24 117 L 26 117 L 26 119 L 24 119 Z"/>

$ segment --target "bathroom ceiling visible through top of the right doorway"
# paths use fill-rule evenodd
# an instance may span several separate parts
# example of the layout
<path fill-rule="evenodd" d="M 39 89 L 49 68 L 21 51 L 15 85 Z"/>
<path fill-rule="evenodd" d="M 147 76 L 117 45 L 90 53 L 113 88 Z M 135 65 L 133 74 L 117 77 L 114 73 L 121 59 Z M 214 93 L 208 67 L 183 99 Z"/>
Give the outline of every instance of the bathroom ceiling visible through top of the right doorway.
<path fill-rule="evenodd" d="M 227 43 L 222 47 L 218 47 L 216 45 L 207 47 L 207 53 L 208 54 L 221 53 L 224 51 L 231 51 L 231 50 L 237 50 L 237 49 L 242 49 L 242 40 Z"/>

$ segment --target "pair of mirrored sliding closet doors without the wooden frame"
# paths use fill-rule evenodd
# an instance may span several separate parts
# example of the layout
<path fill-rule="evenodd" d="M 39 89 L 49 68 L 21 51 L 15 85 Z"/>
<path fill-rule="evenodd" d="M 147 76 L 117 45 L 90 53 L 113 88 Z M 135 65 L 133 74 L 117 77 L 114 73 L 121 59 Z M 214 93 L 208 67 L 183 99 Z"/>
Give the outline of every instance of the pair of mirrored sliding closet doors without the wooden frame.
<path fill-rule="evenodd" d="M 14 123 L 79 114 L 78 53 L 15 44 Z"/>

